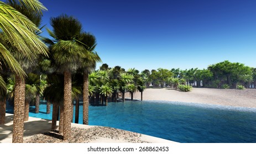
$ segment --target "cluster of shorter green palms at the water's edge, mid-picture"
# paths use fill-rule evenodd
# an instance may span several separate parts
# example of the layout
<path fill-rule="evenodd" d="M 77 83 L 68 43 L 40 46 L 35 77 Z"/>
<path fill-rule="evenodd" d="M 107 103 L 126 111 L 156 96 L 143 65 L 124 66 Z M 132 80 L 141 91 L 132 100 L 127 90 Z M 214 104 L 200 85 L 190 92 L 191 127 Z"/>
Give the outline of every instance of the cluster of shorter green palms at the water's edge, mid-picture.
<path fill-rule="evenodd" d="M 89 75 L 89 96 L 93 102 L 108 102 L 108 97 L 112 97 L 112 102 L 117 102 L 119 93 L 122 101 L 125 101 L 124 94 L 129 92 L 133 101 L 135 91 L 143 92 L 146 88 L 142 74 L 136 69 L 128 69 L 127 72 L 119 66 L 108 68 L 103 64 L 100 70 Z M 95 99 L 96 98 L 96 99 Z M 143 97 L 141 97 L 143 100 Z"/>

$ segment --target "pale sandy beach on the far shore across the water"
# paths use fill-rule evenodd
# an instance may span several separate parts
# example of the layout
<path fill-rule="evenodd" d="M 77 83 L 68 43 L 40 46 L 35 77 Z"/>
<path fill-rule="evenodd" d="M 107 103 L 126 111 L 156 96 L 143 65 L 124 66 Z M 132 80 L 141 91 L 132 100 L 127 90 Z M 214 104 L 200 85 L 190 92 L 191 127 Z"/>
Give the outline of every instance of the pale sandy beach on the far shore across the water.
<path fill-rule="evenodd" d="M 130 97 L 127 94 L 127 97 Z M 140 92 L 135 92 L 134 99 L 140 100 Z M 207 103 L 213 105 L 256 108 L 256 89 L 208 89 L 193 88 L 190 92 L 174 89 L 146 89 L 143 100 L 177 101 L 188 103 Z"/>

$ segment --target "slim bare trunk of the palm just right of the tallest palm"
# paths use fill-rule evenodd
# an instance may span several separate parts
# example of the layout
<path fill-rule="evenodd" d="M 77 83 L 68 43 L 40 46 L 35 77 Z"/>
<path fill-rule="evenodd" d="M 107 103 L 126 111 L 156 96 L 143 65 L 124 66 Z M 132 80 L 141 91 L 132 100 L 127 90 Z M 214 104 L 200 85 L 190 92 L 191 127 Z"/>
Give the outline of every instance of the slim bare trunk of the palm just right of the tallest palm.
<path fill-rule="evenodd" d="M 83 72 L 83 124 L 88 125 L 89 120 L 88 120 L 88 109 L 89 109 L 89 75 L 85 71 Z"/>

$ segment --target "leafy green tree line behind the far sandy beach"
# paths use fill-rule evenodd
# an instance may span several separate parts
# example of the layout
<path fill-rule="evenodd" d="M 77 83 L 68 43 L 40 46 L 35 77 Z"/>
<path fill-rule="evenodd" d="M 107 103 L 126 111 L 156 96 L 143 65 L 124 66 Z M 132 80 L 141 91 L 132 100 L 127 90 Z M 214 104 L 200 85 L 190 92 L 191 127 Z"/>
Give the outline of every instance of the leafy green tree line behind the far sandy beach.
<path fill-rule="evenodd" d="M 144 78 L 147 79 L 147 87 L 166 87 L 171 86 L 175 80 L 185 80 L 187 85 L 193 87 L 211 88 L 231 88 L 238 86 L 245 88 L 256 87 L 256 68 L 245 66 L 242 63 L 232 63 L 229 61 L 209 65 L 207 69 L 191 68 L 181 69 L 147 69 L 142 71 Z"/>

